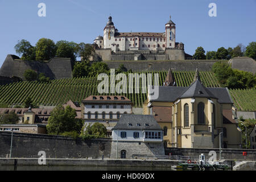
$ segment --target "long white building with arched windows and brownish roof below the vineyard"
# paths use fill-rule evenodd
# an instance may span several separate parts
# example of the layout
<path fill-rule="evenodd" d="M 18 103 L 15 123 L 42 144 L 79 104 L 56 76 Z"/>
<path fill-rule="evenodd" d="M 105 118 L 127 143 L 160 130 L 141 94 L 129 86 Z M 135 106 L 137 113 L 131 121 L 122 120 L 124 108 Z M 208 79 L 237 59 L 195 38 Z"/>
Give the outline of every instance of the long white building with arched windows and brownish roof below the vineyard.
<path fill-rule="evenodd" d="M 89 96 L 81 107 L 85 123 L 102 123 L 109 136 L 122 114 L 133 113 L 133 103 L 125 96 Z"/>

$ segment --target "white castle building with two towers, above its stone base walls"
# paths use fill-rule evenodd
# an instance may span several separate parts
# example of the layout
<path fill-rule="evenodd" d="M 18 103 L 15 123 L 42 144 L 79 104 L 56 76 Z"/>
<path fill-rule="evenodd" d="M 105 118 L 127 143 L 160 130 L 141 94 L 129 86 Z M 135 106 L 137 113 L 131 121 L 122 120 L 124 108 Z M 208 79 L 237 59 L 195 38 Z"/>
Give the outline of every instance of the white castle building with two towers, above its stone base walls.
<path fill-rule="evenodd" d="M 183 43 L 175 42 L 175 23 L 170 19 L 164 32 L 118 32 L 112 22 L 112 16 L 104 28 L 104 35 L 97 36 L 94 44 L 100 49 L 117 51 L 165 51 L 166 48 L 184 50 Z"/>

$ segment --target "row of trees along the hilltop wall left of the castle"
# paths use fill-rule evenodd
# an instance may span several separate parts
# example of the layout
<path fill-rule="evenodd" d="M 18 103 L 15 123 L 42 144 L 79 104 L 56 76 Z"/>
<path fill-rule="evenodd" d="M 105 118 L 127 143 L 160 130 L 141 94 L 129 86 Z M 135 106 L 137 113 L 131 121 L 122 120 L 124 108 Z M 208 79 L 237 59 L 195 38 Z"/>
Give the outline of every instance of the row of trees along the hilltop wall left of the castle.
<path fill-rule="evenodd" d="M 39 39 L 35 46 L 32 46 L 27 40 L 19 40 L 14 49 L 22 60 L 45 61 L 52 57 L 68 57 L 73 63 L 76 61 L 76 57 L 88 60 L 94 52 L 91 44 L 83 42 L 78 44 L 66 40 L 60 40 L 55 44 L 53 40 L 46 38 Z"/>

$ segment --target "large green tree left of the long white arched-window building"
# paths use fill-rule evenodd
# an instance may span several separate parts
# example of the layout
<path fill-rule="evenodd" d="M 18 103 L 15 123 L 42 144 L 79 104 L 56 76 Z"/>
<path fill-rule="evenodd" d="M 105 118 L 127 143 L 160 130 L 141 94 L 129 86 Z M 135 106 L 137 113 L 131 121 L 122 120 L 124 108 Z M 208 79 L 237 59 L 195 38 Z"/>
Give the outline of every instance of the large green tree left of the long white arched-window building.
<path fill-rule="evenodd" d="M 71 106 L 63 107 L 61 105 L 56 106 L 52 110 L 51 117 L 49 117 L 48 124 L 46 126 L 48 134 L 63 134 L 65 132 L 76 131 L 80 133 L 83 122 L 82 119 L 77 119 L 76 110 Z"/>

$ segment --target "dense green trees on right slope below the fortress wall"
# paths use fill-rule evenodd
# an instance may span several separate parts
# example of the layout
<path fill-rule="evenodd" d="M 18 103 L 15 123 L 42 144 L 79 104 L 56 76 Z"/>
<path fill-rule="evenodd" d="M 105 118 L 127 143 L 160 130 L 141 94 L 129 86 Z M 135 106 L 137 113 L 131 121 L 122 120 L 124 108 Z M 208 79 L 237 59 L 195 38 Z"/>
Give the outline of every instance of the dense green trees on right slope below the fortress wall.
<path fill-rule="evenodd" d="M 256 88 L 256 76 L 253 73 L 232 69 L 228 63 L 214 63 L 212 71 L 222 87 L 229 89 Z"/>

